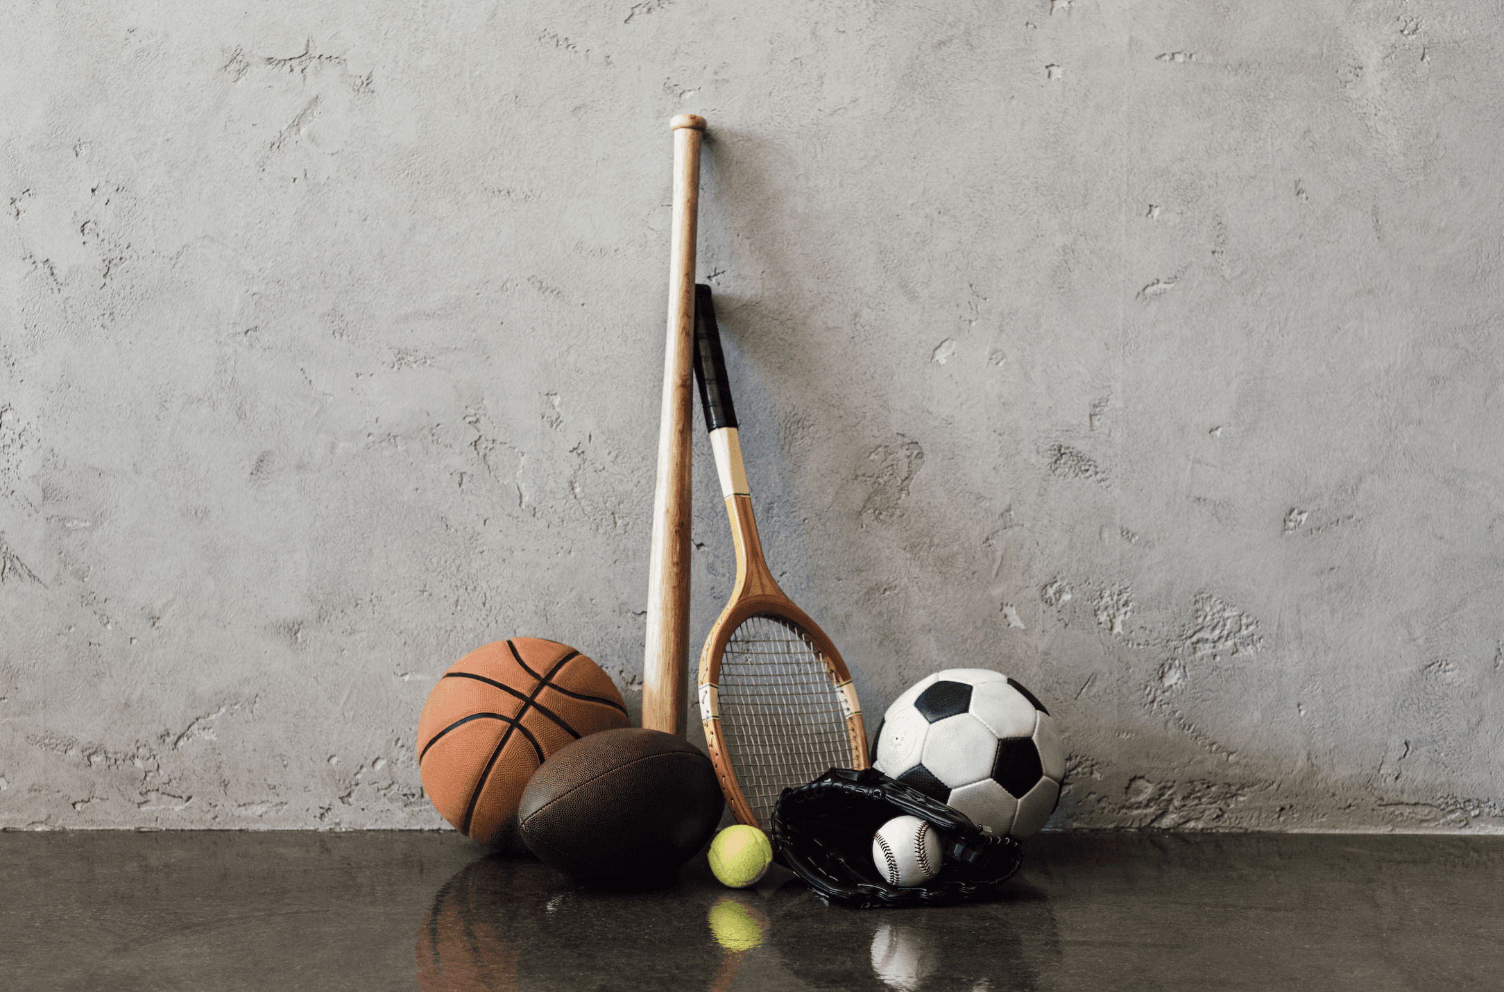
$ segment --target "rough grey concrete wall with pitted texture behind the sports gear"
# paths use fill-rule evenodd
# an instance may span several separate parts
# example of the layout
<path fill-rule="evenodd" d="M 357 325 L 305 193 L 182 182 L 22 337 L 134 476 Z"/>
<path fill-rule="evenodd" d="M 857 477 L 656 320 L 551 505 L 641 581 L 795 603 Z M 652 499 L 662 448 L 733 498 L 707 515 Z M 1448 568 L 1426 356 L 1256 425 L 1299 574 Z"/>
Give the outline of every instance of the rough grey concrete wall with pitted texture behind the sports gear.
<path fill-rule="evenodd" d="M 1496 5 L 23 0 L 0 825 L 435 827 L 510 634 L 636 705 L 672 113 L 781 582 L 1056 825 L 1504 825 Z M 696 430 L 699 636 L 732 561 Z"/>

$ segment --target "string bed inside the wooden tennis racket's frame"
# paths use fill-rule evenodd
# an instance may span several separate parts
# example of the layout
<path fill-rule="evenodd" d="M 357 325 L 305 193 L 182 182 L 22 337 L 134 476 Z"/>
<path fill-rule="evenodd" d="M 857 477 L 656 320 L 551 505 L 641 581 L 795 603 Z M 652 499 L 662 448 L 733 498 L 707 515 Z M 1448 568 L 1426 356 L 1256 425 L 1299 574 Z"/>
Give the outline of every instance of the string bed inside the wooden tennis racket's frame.
<path fill-rule="evenodd" d="M 720 730 L 761 827 L 784 789 L 854 767 L 841 693 L 824 655 L 793 621 L 770 613 L 743 621 L 717 681 Z"/>

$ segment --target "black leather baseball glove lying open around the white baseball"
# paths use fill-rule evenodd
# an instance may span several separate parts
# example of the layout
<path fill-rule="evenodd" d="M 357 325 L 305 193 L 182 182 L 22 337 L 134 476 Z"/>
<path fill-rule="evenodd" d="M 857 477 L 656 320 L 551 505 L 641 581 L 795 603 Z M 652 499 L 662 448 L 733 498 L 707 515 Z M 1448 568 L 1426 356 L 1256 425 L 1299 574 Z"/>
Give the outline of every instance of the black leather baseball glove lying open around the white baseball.
<path fill-rule="evenodd" d="M 929 821 L 940 833 L 945 866 L 923 885 L 899 888 L 878 876 L 872 834 L 905 813 Z M 875 768 L 832 768 L 806 786 L 784 789 L 773 810 L 773 843 L 817 896 L 859 909 L 985 899 L 1023 860 L 1012 837 L 982 833 L 960 810 Z"/>

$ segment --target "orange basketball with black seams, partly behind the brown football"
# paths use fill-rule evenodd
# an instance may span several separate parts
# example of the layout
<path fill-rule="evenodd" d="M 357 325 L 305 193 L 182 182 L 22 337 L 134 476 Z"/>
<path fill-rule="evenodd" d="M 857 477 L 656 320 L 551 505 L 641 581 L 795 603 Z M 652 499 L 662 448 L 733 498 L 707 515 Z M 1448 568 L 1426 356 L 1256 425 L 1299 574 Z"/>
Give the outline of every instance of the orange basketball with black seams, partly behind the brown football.
<path fill-rule="evenodd" d="M 418 717 L 423 789 L 462 834 L 504 848 L 543 759 L 624 726 L 621 693 L 579 651 L 537 637 L 498 640 L 456 661 L 429 693 Z"/>

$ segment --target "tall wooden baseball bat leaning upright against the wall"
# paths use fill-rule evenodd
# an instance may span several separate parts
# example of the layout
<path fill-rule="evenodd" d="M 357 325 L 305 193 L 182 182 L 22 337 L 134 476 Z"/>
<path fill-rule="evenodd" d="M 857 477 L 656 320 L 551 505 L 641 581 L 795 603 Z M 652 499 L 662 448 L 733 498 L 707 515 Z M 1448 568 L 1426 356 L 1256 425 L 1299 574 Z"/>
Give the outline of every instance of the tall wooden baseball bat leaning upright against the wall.
<path fill-rule="evenodd" d="M 695 224 L 705 119 L 678 114 L 674 131 L 674 221 L 668 268 L 668 347 L 653 488 L 648 631 L 642 657 L 642 726 L 684 736 L 689 657 L 690 355 L 695 346 Z"/>

